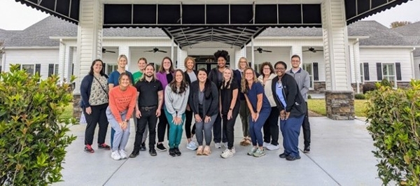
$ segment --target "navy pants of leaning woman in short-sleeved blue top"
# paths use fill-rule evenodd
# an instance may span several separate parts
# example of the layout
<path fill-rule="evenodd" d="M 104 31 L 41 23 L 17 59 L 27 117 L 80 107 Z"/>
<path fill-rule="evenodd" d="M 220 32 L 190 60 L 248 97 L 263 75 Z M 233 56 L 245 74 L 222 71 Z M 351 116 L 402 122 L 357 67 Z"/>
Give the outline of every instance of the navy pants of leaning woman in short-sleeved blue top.
<path fill-rule="evenodd" d="M 251 135 L 252 145 L 255 146 L 258 143 L 258 146 L 262 147 L 264 140 L 262 139 L 261 129 L 270 112 L 271 108 L 262 108 L 260 110 L 260 115 L 255 122 L 252 120 L 252 114 L 249 115 L 249 134 Z"/>

